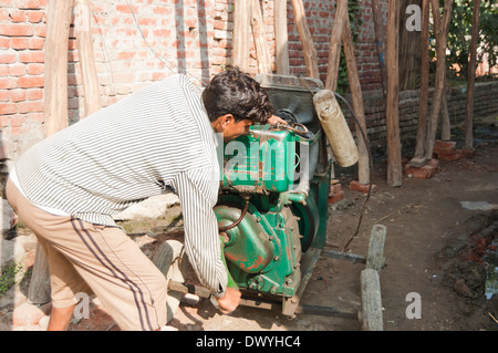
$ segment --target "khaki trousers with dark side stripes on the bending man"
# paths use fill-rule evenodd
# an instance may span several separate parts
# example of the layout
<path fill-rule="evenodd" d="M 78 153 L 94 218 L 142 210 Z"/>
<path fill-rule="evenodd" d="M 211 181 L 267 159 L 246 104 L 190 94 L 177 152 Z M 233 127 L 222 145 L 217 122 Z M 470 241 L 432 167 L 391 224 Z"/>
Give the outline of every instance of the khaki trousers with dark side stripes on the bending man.
<path fill-rule="evenodd" d="M 166 279 L 121 228 L 48 214 L 10 179 L 6 194 L 45 251 L 54 308 L 76 304 L 79 292 L 93 292 L 122 330 L 166 324 Z"/>

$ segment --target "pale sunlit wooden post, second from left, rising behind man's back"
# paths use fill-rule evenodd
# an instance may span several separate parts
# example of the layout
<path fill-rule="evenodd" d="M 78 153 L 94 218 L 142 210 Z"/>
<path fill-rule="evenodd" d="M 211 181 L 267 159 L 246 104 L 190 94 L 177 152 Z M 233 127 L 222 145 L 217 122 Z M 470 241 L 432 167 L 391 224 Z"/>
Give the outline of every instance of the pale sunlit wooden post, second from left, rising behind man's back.
<path fill-rule="evenodd" d="M 101 108 L 98 79 L 93 55 L 91 9 L 89 0 L 74 0 L 74 29 L 82 75 L 83 116 L 89 116 Z"/>

